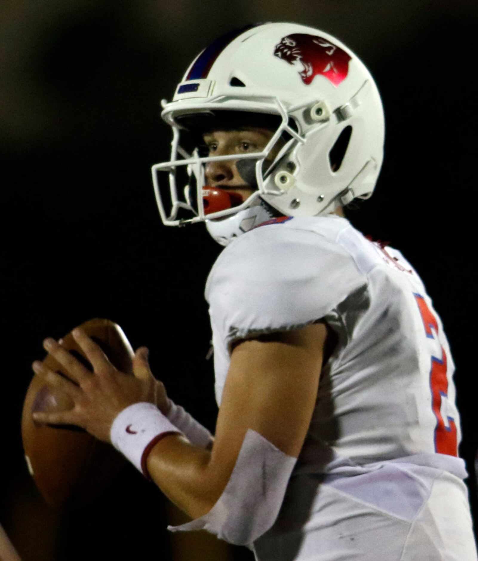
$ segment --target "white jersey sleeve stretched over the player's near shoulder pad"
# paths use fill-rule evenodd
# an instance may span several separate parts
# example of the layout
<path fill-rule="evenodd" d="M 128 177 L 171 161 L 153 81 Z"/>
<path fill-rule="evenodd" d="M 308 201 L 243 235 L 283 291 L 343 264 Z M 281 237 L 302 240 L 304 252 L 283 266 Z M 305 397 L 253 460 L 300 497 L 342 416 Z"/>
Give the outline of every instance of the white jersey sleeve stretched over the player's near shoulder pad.
<path fill-rule="evenodd" d="M 317 232 L 265 226 L 222 251 L 206 284 L 222 342 L 304 327 L 366 284 L 353 257 Z"/>

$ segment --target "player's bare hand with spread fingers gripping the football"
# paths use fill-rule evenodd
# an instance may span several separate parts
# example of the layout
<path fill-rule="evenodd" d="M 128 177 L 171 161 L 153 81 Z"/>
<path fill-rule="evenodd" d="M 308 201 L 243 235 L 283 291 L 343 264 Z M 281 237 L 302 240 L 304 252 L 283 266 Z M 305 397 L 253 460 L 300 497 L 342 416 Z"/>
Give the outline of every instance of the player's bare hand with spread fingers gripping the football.
<path fill-rule="evenodd" d="M 72 381 L 35 361 L 35 373 L 45 376 L 48 384 L 64 392 L 75 404 L 71 410 L 54 413 L 33 413 L 37 422 L 52 425 L 77 425 L 104 442 L 110 442 L 110 429 L 115 417 L 124 408 L 138 402 L 154 403 L 168 409 L 164 385 L 151 373 L 146 347 L 140 347 L 133 357 L 134 376 L 117 370 L 101 348 L 81 329 L 73 337 L 89 360 L 93 372 L 81 364 L 54 339 L 45 339 L 45 350 L 63 367 Z"/>

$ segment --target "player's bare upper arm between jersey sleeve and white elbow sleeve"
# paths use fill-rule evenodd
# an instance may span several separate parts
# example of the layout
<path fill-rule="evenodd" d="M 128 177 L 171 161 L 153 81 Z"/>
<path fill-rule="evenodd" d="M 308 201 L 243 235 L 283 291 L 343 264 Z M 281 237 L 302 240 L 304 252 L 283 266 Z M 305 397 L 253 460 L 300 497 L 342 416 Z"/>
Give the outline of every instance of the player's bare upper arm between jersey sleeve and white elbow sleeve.
<path fill-rule="evenodd" d="M 298 457 L 312 419 L 327 328 L 323 323 L 234 347 L 211 463 L 233 470 L 248 429 Z"/>

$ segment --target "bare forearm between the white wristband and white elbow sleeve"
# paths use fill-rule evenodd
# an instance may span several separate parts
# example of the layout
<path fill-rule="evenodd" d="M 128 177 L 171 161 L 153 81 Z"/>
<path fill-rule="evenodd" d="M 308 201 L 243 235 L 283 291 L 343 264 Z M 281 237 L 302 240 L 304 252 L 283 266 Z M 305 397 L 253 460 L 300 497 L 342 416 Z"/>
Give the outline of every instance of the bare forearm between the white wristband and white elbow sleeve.
<path fill-rule="evenodd" d="M 161 491 L 191 518 L 211 510 L 230 477 L 225 467 L 214 468 L 209 450 L 181 435 L 160 440 L 148 456 L 147 469 Z"/>

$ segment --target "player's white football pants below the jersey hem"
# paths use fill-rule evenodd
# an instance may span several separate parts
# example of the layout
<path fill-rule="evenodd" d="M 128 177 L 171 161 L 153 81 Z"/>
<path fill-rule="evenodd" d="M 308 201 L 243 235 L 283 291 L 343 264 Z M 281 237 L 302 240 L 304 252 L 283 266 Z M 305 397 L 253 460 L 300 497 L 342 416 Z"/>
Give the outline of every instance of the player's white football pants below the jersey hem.
<path fill-rule="evenodd" d="M 477 561 L 466 485 L 421 466 L 293 477 L 253 550 L 257 561 Z"/>

